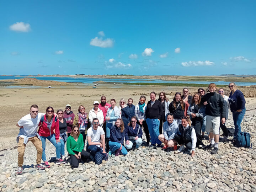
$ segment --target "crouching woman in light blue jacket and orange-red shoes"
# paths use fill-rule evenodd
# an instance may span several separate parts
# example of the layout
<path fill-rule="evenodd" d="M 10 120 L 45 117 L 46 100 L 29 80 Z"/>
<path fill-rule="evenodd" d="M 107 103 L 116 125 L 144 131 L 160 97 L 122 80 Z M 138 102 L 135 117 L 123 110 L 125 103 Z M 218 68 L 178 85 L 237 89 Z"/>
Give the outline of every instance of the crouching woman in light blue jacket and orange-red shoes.
<path fill-rule="evenodd" d="M 162 149 L 173 147 L 177 150 L 177 142 L 174 139 L 174 135 L 178 132 L 178 124 L 174 122 L 174 118 L 171 114 L 167 116 L 167 121 L 164 122 L 164 134 L 158 136 L 158 139 L 165 145 Z"/>

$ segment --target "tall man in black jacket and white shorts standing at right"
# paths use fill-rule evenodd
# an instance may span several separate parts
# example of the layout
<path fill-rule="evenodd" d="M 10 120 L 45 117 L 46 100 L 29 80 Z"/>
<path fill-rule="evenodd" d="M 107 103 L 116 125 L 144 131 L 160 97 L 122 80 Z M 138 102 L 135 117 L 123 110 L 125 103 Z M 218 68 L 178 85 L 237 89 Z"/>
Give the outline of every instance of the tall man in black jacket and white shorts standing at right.
<path fill-rule="evenodd" d="M 226 111 L 223 97 L 215 92 L 216 85 L 211 83 L 208 89 L 210 92 L 203 96 L 201 103 L 206 106 L 206 132 L 210 132 L 211 143 L 204 149 L 213 148 L 211 153 L 215 154 L 218 152 L 220 119 L 224 124 Z"/>

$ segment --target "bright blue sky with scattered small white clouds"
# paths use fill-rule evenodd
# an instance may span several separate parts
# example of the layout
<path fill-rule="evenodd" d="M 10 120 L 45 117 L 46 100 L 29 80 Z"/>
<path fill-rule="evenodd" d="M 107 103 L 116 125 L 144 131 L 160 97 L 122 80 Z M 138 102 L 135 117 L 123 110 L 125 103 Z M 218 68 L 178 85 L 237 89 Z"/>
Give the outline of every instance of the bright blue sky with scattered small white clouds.
<path fill-rule="evenodd" d="M 0 75 L 256 74 L 256 1 L 1 1 Z"/>

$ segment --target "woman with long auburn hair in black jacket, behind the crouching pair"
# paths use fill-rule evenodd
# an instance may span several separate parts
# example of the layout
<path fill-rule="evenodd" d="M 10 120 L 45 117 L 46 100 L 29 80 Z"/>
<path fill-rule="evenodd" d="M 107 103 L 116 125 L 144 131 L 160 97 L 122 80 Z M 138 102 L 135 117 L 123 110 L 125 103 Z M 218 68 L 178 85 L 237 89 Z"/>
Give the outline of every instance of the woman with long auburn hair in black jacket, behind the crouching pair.
<path fill-rule="evenodd" d="M 174 121 L 181 124 L 181 117 L 184 117 L 185 103 L 182 100 L 181 93 L 176 92 L 172 102 L 169 105 L 169 112 L 172 113 Z"/>

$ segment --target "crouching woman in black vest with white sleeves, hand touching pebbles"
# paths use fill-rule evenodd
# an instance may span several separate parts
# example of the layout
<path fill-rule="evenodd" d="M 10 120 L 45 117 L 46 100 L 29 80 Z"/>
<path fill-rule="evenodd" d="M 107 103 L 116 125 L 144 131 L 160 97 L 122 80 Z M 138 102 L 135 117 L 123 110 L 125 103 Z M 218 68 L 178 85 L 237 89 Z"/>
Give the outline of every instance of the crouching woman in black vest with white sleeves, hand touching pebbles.
<path fill-rule="evenodd" d="M 175 140 L 180 144 L 180 149 L 178 149 L 178 153 L 185 151 L 185 146 L 188 152 L 191 153 L 191 157 L 195 155 L 196 148 L 196 132 L 193 127 L 191 127 L 190 117 L 182 117 L 181 124 L 178 126 L 178 132 L 174 136 Z"/>

